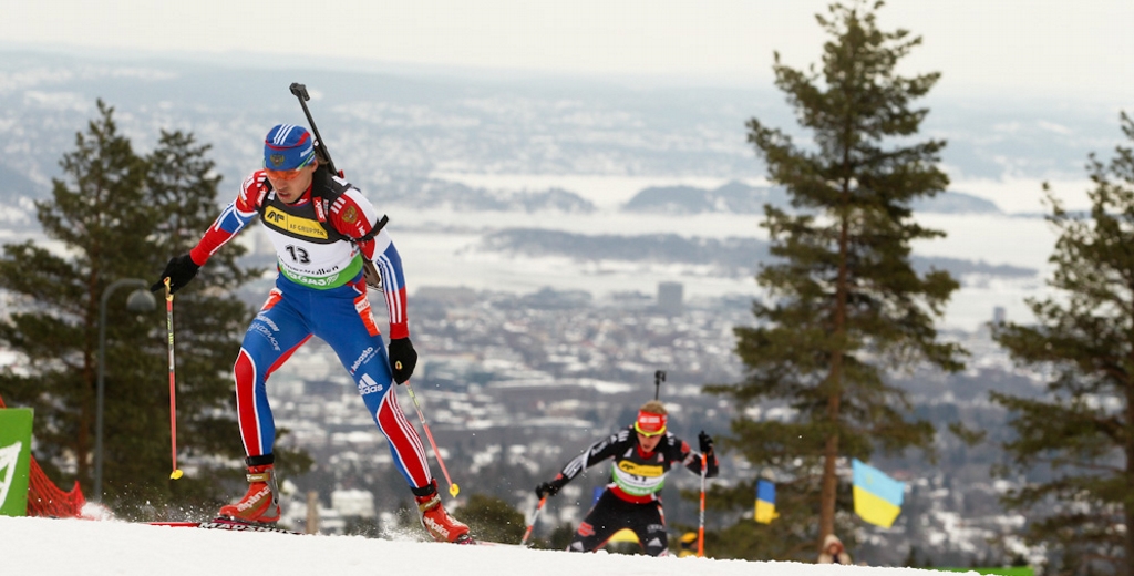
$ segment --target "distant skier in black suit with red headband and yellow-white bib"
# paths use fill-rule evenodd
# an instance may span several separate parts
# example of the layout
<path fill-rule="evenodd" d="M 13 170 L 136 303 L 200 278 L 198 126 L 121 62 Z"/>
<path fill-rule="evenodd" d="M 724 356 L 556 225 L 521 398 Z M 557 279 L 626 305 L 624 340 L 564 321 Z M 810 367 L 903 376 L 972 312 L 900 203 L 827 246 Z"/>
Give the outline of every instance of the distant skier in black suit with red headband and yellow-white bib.
<path fill-rule="evenodd" d="M 634 424 L 591 444 L 567 463 L 555 480 L 535 486 L 535 495 L 541 499 L 556 495 L 586 468 L 613 459 L 611 482 L 575 531 L 567 545 L 569 552 L 592 552 L 606 545 L 615 533 L 629 528 L 646 554 L 669 554 L 660 494 L 666 474 L 680 464 L 700 475 L 704 454 L 705 477 L 711 478 L 717 475 L 718 464 L 709 434 L 702 431 L 697 435 L 699 452 L 666 430 L 667 420 L 665 405 L 658 400 L 645 403 Z"/>

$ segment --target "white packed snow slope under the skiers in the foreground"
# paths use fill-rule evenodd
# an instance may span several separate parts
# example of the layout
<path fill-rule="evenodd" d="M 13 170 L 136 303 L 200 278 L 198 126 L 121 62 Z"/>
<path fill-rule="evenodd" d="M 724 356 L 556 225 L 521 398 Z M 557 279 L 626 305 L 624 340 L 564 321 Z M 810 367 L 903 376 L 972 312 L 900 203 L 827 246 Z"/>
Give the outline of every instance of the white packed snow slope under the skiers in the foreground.
<path fill-rule="evenodd" d="M 0 573 L 154 576 L 925 576 L 913 568 L 570 553 L 362 536 L 149 526 L 0 516 Z M 940 574 L 940 573 L 939 573 Z M 975 573 L 967 573 L 975 574 Z"/>

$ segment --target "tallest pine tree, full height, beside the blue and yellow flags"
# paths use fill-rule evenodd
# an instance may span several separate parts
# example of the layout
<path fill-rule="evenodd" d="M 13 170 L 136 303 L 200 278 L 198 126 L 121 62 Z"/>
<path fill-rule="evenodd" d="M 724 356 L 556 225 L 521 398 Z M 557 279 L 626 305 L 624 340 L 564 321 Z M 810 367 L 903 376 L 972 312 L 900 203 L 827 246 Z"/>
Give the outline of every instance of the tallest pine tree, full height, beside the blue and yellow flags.
<path fill-rule="evenodd" d="M 914 222 L 909 207 L 948 185 L 936 167 L 945 143 L 914 141 L 928 110 L 911 108 L 940 75 L 896 75 L 921 37 L 879 31 L 881 6 L 836 3 L 829 17 L 816 16 L 830 35 L 821 70 L 793 69 L 776 54 L 776 85 L 812 132 L 813 146 L 797 147 L 755 118 L 747 122 L 769 179 L 787 189 L 794 210 L 764 207 L 762 226 L 777 260 L 756 281 L 773 304 L 755 303 L 756 325 L 735 329 L 745 378 L 708 390 L 788 414 L 742 416 L 726 441 L 779 480 L 781 517 L 771 526 L 737 524 L 722 537 L 767 535 L 759 544 L 734 544 L 759 547 L 764 558 L 814 560 L 826 534 L 849 536 L 850 489 L 838 482 L 840 458 L 869 460 L 878 449 L 907 448 L 932 456 L 933 426 L 911 417 L 906 395 L 887 382 L 886 371 L 917 363 L 962 367 L 963 350 L 938 341 L 933 325 L 958 285 L 943 271 L 920 277 L 909 259 L 914 240 L 943 236 Z M 712 500 L 751 515 L 753 497 L 754 480 Z"/>

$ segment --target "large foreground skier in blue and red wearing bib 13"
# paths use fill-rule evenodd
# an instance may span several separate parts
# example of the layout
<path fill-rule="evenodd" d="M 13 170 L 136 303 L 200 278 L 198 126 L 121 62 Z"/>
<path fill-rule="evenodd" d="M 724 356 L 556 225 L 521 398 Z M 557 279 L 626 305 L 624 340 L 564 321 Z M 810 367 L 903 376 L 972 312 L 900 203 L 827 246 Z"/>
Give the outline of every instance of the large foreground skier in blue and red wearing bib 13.
<path fill-rule="evenodd" d="M 386 435 L 393 461 L 409 484 L 422 525 L 437 540 L 471 541 L 468 526 L 446 513 L 425 449 L 398 406 L 392 383 L 413 374 L 401 259 L 374 206 L 358 188 L 320 166 L 315 142 L 303 127 L 281 124 L 264 138 L 264 167 L 252 172 L 231 204 L 187 254 L 169 261 L 162 281 L 175 293 L 218 249 L 259 220 L 276 247 L 276 286 L 252 321 L 234 369 L 236 409 L 248 467 L 248 492 L 220 509 L 246 522 L 276 522 L 279 491 L 273 469 L 276 425 L 268 376 L 312 336 L 324 340 L 350 373 L 366 409 Z M 371 314 L 364 268 L 381 277 L 390 344 Z M 376 279 L 373 281 L 378 283 Z"/>

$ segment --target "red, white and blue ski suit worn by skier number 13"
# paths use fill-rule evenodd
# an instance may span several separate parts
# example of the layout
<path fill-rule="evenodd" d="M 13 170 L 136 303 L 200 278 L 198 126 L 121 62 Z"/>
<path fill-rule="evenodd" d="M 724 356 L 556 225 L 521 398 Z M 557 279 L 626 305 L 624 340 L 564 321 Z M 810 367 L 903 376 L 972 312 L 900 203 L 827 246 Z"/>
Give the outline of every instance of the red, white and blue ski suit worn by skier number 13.
<path fill-rule="evenodd" d="M 401 259 L 378 212 L 362 193 L 325 169 L 296 202 L 276 198 L 263 170 L 248 176 L 240 193 L 189 252 L 203 265 L 253 220 L 268 230 L 279 273 L 268 300 L 248 325 L 234 369 L 240 438 L 248 457 L 272 454 L 276 423 L 268 376 L 311 337 L 325 341 L 350 374 L 393 461 L 411 488 L 432 476 L 417 431 L 398 406 L 387 349 L 371 314 L 363 259 L 381 276 L 390 338 L 407 338 L 406 286 Z"/>

